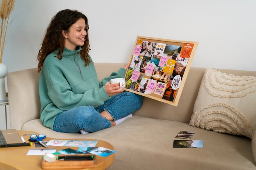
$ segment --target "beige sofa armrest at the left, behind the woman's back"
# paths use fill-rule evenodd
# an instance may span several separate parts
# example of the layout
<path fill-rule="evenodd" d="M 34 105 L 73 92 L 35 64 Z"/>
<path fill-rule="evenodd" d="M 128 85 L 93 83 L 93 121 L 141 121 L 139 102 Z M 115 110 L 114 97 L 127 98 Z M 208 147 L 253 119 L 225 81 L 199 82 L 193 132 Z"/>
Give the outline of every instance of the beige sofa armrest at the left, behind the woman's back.
<path fill-rule="evenodd" d="M 7 74 L 11 128 L 21 130 L 27 121 L 40 118 L 37 68 Z"/>

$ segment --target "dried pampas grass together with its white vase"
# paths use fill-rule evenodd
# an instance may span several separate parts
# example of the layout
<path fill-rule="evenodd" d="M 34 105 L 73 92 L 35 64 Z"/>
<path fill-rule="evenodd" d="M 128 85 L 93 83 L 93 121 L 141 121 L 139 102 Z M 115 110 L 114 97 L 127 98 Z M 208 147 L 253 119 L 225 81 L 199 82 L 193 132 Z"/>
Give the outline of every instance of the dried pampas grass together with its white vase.
<path fill-rule="evenodd" d="M 2 0 L 0 5 L 0 17 L 1 21 L 1 34 L 0 34 L 0 100 L 7 99 L 5 92 L 5 82 L 4 77 L 8 73 L 8 68 L 2 63 L 2 57 L 4 52 L 4 42 L 6 37 L 6 32 L 9 24 L 9 15 L 13 10 L 15 0 Z M 11 20 L 12 22 L 12 20 Z M 11 25 L 11 22 L 9 25 Z"/>

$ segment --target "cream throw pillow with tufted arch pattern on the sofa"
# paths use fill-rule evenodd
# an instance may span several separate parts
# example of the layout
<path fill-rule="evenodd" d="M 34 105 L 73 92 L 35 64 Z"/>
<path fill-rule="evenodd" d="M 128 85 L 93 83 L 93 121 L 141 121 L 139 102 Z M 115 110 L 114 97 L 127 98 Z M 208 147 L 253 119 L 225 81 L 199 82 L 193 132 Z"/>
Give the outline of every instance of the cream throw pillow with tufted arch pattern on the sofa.
<path fill-rule="evenodd" d="M 189 125 L 252 138 L 256 124 L 256 77 L 204 73 Z"/>

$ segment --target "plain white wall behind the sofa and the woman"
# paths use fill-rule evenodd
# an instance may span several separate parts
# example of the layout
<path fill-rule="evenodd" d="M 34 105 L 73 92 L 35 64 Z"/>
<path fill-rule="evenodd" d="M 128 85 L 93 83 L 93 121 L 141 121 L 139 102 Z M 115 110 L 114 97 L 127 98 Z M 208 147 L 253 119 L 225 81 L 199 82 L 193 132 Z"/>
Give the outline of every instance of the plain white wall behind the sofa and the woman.
<path fill-rule="evenodd" d="M 255 0 L 16 0 L 2 60 L 9 72 L 37 66 L 45 29 L 62 9 L 88 17 L 94 62 L 128 63 L 141 35 L 199 42 L 193 67 L 256 71 Z"/>

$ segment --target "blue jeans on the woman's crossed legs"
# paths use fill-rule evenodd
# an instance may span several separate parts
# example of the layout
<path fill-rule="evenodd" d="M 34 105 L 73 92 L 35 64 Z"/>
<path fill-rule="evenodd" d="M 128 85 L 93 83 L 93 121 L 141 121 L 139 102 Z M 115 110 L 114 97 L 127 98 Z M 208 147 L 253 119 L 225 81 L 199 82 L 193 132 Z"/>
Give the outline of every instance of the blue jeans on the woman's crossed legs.
<path fill-rule="evenodd" d="M 100 115 L 103 110 L 106 110 L 115 121 L 139 110 L 142 103 L 141 95 L 130 92 L 119 93 L 97 108 L 79 106 L 58 114 L 53 130 L 66 133 L 77 133 L 81 129 L 87 132 L 96 132 L 111 126 L 111 122 Z"/>

